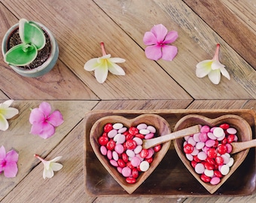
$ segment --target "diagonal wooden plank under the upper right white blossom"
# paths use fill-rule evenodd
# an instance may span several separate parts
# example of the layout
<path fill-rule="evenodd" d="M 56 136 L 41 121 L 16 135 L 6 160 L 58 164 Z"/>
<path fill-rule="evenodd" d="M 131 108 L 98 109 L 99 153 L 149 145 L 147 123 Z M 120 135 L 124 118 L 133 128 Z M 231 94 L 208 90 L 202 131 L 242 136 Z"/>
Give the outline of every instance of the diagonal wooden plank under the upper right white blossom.
<path fill-rule="evenodd" d="M 114 0 L 108 2 L 96 0 L 95 2 L 143 48 L 145 48 L 142 41 L 143 35 L 155 24 L 162 23 L 168 30 L 178 31 L 178 40 L 173 43 L 178 47 L 178 55 L 172 62 L 159 60 L 157 63 L 193 98 L 256 98 L 254 69 L 184 2 L 133 1 L 127 2 L 125 8 L 122 8 L 120 2 L 117 3 Z M 198 62 L 212 59 L 217 43 L 221 43 L 221 62 L 227 66 L 231 80 L 222 77 L 221 83 L 214 85 L 208 77 L 197 78 L 195 71 Z"/>

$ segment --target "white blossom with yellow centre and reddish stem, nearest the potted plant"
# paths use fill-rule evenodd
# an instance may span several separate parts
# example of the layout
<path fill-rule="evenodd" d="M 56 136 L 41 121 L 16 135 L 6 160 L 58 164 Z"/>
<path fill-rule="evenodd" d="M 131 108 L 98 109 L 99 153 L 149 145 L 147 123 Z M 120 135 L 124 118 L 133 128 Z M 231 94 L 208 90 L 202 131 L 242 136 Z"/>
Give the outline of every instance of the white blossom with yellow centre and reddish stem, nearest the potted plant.
<path fill-rule="evenodd" d="M 125 75 L 123 68 L 121 68 L 116 63 L 125 62 L 125 59 L 121 58 L 111 58 L 110 54 L 105 52 L 104 43 L 100 43 L 102 47 L 102 57 L 90 59 L 84 64 L 84 69 L 86 71 L 94 71 L 96 80 L 99 83 L 104 83 L 108 77 L 108 71 L 111 74 Z"/>

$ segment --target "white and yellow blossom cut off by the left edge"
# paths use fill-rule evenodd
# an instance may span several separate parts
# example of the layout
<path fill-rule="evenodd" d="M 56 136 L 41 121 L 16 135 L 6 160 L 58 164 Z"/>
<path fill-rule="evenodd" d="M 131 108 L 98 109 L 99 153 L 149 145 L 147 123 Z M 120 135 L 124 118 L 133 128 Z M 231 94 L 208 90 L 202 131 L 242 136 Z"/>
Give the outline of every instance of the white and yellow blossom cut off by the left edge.
<path fill-rule="evenodd" d="M 11 119 L 15 115 L 19 114 L 16 108 L 11 108 L 11 104 L 14 100 L 7 100 L 0 104 L 0 130 L 7 130 L 9 128 L 8 119 Z"/>

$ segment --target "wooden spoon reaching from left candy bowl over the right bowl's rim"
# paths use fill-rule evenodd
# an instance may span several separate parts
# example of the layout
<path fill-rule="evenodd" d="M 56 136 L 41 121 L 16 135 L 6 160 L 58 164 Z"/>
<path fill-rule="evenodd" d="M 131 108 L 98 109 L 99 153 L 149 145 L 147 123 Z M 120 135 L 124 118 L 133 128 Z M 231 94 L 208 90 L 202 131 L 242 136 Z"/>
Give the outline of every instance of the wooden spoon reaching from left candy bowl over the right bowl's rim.
<path fill-rule="evenodd" d="M 172 132 L 168 135 L 162 135 L 162 136 L 159 136 L 157 138 L 143 140 L 142 147 L 143 147 L 143 149 L 148 149 L 148 148 L 154 147 L 158 144 L 162 144 L 166 141 L 171 141 L 171 140 L 174 140 L 176 138 L 183 138 L 187 135 L 193 135 L 193 134 L 196 134 L 198 132 L 200 132 L 200 126 L 199 125 L 191 126 L 189 128 L 186 128 L 186 129 L 181 129 L 181 130 L 178 130 L 176 132 Z"/>

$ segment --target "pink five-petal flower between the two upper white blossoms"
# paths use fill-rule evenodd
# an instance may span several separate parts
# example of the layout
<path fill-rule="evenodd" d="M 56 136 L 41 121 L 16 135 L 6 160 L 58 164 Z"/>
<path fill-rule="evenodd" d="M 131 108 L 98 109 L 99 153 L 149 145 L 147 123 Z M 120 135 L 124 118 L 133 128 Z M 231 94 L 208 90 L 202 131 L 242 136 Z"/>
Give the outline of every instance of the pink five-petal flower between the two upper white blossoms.
<path fill-rule="evenodd" d="M 168 32 L 162 24 L 156 25 L 151 29 L 151 32 L 145 32 L 143 42 L 148 47 L 145 48 L 145 54 L 148 59 L 158 60 L 164 59 L 172 61 L 178 49 L 175 46 L 167 45 L 174 42 L 178 38 L 178 32 Z"/>

